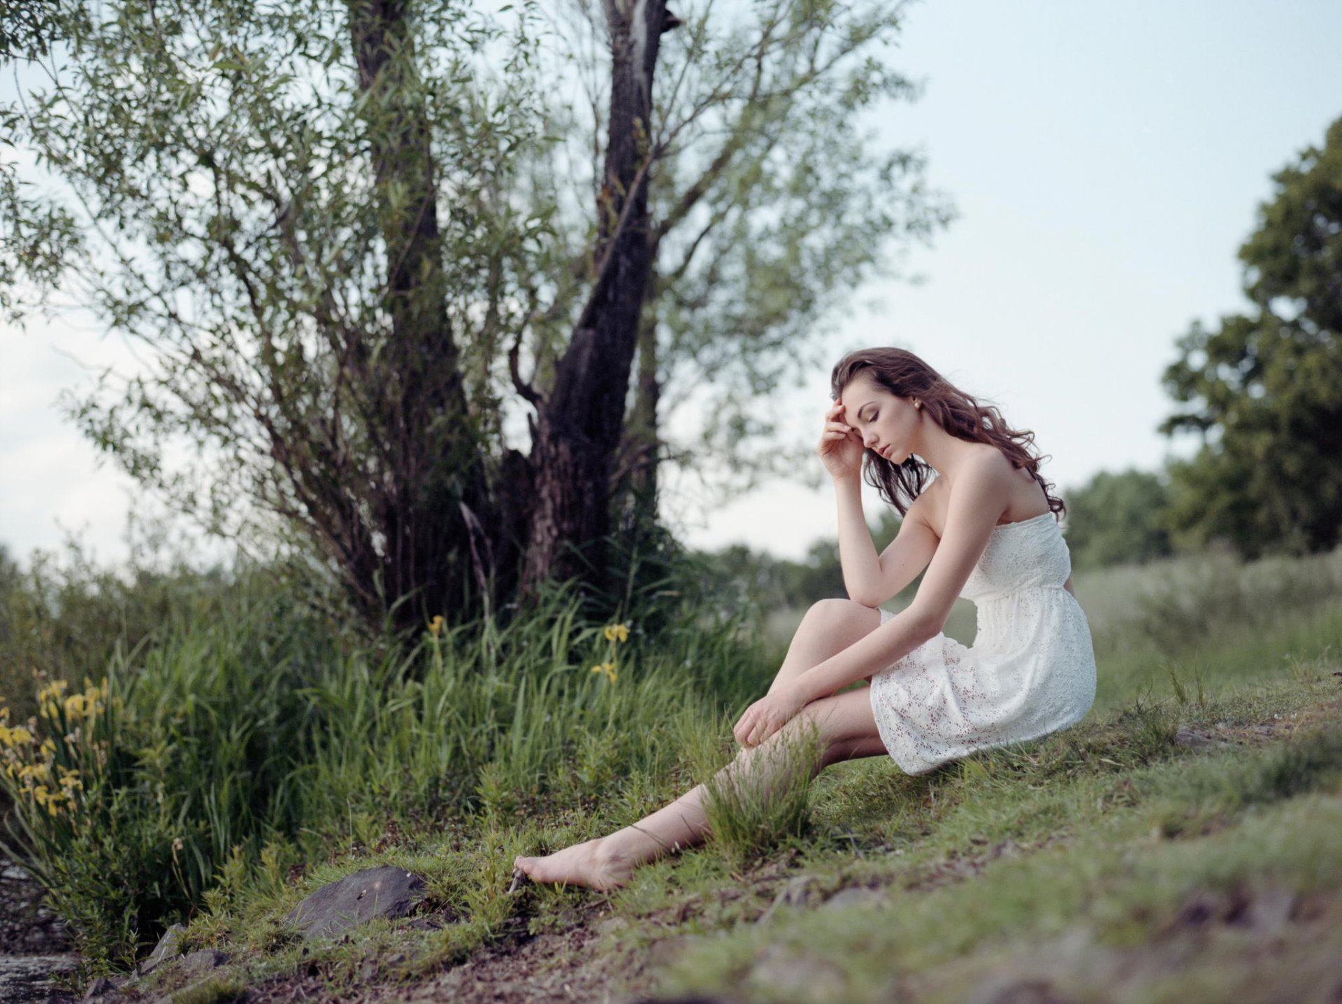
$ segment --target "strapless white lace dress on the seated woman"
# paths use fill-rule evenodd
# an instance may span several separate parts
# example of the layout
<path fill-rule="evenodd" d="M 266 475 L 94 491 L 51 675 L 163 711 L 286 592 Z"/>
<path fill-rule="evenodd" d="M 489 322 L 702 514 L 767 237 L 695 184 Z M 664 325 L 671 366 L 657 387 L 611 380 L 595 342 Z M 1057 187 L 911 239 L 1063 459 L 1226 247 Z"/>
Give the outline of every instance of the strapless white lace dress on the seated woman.
<path fill-rule="evenodd" d="M 974 644 L 939 634 L 871 678 L 876 727 L 903 770 L 922 774 L 1086 715 L 1095 648 L 1063 588 L 1071 568 L 1052 513 L 993 528 L 961 592 L 978 609 Z M 883 609 L 880 623 L 894 616 Z"/>

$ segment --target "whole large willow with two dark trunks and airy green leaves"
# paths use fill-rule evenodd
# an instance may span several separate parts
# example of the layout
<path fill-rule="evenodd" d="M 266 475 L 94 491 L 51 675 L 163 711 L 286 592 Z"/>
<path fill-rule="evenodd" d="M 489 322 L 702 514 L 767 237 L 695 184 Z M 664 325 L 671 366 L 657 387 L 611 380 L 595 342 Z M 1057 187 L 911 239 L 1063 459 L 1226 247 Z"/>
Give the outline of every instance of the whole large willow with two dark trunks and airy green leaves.
<path fill-rule="evenodd" d="M 48 0 L 30 24 L 5 15 L 23 93 L 0 109 L 4 142 L 35 158 L 38 185 L 0 168 L 0 307 L 60 289 L 146 345 L 142 370 L 72 404 L 82 428 L 212 532 L 315 553 L 372 619 L 403 597 L 413 623 L 599 580 L 633 362 L 660 365 L 640 337 L 702 328 L 733 290 L 749 302 L 778 239 L 794 272 L 858 260 L 856 281 L 895 228 L 888 213 L 866 230 L 766 220 L 824 208 L 797 201 L 809 183 L 831 217 L 870 205 L 870 185 L 789 174 L 778 152 L 804 149 L 794 130 L 824 136 L 805 95 L 832 94 L 836 115 L 874 99 L 886 71 L 863 51 L 896 21 L 876 4 L 780 1 L 719 38 L 705 9 L 586 9 L 604 85 L 581 200 L 556 169 L 576 118 L 534 4 L 491 17 L 451 0 Z M 16 43 L 25 30 L 52 44 Z M 684 42 L 668 85 L 671 30 Z M 827 255 L 854 234 L 866 251 Z M 774 272 L 772 303 L 788 268 Z M 758 330 L 800 340 L 777 318 L 813 318 L 815 302 L 773 303 Z M 526 451 L 506 421 L 522 411 Z"/>

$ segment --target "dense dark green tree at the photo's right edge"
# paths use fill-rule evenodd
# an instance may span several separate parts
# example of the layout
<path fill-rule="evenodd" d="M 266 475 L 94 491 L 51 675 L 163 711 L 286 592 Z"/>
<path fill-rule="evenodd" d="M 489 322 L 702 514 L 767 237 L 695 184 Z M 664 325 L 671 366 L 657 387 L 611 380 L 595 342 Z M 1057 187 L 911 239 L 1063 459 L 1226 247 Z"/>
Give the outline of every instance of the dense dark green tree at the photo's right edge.
<path fill-rule="evenodd" d="M 1165 387 L 1192 407 L 1161 425 L 1202 434 L 1169 467 L 1176 542 L 1245 557 L 1342 541 L 1342 119 L 1272 180 L 1239 251 L 1253 307 L 1178 340 Z"/>

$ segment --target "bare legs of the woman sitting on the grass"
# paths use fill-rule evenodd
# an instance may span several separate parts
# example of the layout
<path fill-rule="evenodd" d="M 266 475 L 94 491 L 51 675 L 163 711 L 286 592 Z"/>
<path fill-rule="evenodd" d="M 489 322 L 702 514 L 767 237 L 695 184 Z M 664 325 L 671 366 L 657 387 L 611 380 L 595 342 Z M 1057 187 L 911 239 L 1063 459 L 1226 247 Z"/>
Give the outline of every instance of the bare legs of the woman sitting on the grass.
<path fill-rule="evenodd" d="M 847 648 L 879 624 L 878 611 L 848 600 L 823 600 L 815 604 L 797 627 L 788 656 L 769 690 Z M 721 783 L 739 784 L 749 779 L 750 784 L 773 784 L 776 774 L 786 769 L 788 758 L 770 756 L 770 750 L 776 750 L 780 744 L 796 741 L 798 729 L 811 722 L 820 729 L 824 750 L 817 769 L 840 760 L 886 752 L 871 713 L 871 698 L 866 690 L 856 690 L 807 705 L 788 723 L 792 727 L 785 726 L 757 749 L 742 749 L 717 779 Z M 761 776 L 761 772 L 768 774 Z M 698 784 L 624 830 L 544 858 L 518 856 L 514 867 L 535 882 L 565 882 L 593 889 L 623 886 L 636 866 L 703 840 L 707 830 L 706 793 L 706 785 Z"/>

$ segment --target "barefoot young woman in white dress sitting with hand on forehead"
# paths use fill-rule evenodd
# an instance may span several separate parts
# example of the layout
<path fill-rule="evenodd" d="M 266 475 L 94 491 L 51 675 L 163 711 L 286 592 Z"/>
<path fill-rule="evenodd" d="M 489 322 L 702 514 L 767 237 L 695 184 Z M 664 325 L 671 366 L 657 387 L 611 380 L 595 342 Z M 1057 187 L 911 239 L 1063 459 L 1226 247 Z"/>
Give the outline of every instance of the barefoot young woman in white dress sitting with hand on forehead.
<path fill-rule="evenodd" d="M 803 617 L 769 693 L 733 729 L 742 750 L 723 780 L 772 784 L 788 761 L 757 754 L 804 729 L 819 732 L 819 769 L 888 754 L 919 774 L 1080 721 L 1095 699 L 1095 654 L 1053 515 L 1066 507 L 1039 475 L 1033 434 L 903 349 L 849 353 L 832 389 L 817 452 L 839 497 L 848 599 Z M 903 517 L 880 554 L 862 511 L 863 467 Z M 906 609 L 879 609 L 923 569 Z M 942 634 L 957 596 L 978 609 L 968 648 Z M 835 693 L 858 681 L 870 687 Z M 705 793 L 696 785 L 608 836 L 518 856 L 514 874 L 624 885 L 637 864 L 703 839 Z"/>

